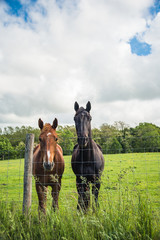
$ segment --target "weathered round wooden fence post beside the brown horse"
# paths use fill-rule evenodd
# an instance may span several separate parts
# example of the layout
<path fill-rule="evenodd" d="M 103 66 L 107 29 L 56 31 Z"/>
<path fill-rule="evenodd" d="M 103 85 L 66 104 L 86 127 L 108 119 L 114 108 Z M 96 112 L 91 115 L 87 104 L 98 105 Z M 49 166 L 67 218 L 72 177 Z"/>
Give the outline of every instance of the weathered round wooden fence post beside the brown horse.
<path fill-rule="evenodd" d="M 28 213 L 32 201 L 32 160 L 34 148 L 34 134 L 26 135 L 24 183 L 23 183 L 23 213 Z"/>

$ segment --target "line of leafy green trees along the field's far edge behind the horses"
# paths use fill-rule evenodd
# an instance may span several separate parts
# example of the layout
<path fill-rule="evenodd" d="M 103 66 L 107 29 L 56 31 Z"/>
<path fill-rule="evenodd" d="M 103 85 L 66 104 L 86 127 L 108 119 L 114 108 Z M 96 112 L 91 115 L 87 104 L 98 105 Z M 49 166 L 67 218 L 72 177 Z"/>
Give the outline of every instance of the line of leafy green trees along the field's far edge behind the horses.
<path fill-rule="evenodd" d="M 23 158 L 27 133 L 35 135 L 37 145 L 40 134 L 37 128 L 22 126 L 0 129 L 0 160 Z M 77 143 L 75 126 L 58 126 L 57 133 L 64 155 L 70 155 Z M 104 154 L 160 151 L 160 128 L 152 123 L 139 123 L 134 128 L 121 121 L 113 125 L 104 123 L 100 128 L 92 129 L 92 138 Z"/>

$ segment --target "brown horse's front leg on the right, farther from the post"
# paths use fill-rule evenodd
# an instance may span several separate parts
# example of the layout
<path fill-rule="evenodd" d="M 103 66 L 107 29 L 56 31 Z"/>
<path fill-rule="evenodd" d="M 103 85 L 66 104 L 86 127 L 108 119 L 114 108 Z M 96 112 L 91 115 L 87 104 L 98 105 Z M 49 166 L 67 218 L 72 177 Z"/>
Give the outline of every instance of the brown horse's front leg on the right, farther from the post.
<path fill-rule="evenodd" d="M 53 197 L 52 206 L 54 211 L 56 210 L 56 208 L 57 209 L 59 208 L 58 198 L 59 198 L 60 189 L 61 189 L 61 178 L 58 179 L 58 182 L 52 185 L 52 197 Z"/>

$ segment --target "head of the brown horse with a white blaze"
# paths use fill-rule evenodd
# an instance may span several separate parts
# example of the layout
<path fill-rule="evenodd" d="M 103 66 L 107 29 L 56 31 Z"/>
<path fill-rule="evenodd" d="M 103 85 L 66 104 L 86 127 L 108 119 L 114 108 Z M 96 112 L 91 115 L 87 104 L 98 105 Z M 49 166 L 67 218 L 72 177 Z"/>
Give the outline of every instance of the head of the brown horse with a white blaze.
<path fill-rule="evenodd" d="M 43 160 L 43 167 L 46 171 L 52 171 L 54 168 L 54 158 L 56 154 L 57 133 L 56 127 L 58 121 L 55 118 L 52 126 L 49 123 L 44 125 L 41 119 L 38 120 L 41 133 L 39 136 L 41 157 Z"/>

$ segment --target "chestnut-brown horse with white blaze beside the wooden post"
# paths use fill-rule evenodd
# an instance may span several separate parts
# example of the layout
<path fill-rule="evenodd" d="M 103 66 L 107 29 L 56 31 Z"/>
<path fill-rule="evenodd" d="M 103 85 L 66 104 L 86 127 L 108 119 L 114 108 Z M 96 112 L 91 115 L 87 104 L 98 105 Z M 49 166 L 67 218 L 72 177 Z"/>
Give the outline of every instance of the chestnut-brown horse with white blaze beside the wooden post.
<path fill-rule="evenodd" d="M 48 186 L 52 187 L 52 206 L 54 210 L 58 208 L 64 159 L 62 149 L 57 144 L 57 119 L 55 118 L 52 126 L 49 123 L 44 125 L 43 121 L 39 119 L 38 125 L 41 129 L 40 143 L 35 147 L 33 153 L 33 175 L 39 199 L 39 210 L 45 213 Z"/>

